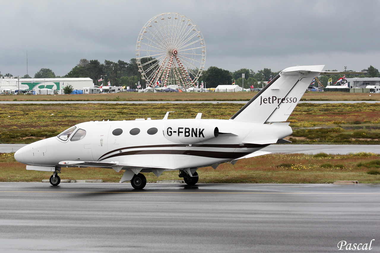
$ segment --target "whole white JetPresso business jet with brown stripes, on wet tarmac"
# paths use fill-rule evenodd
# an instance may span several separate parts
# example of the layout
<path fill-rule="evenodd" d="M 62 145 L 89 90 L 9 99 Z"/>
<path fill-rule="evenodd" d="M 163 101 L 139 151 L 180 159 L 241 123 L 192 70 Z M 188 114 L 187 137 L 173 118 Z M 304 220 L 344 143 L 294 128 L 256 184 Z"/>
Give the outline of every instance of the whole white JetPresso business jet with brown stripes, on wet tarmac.
<path fill-rule="evenodd" d="M 269 154 L 260 149 L 290 142 L 286 123 L 294 107 L 324 65 L 284 69 L 230 119 L 136 119 L 90 121 L 77 124 L 56 137 L 19 149 L 14 158 L 27 170 L 51 171 L 58 185 L 62 168 L 100 167 L 124 170 L 120 182 L 135 189 L 146 185 L 142 173 L 179 170 L 188 185 L 198 182 L 196 170 Z M 340 72 L 324 72 L 338 74 Z"/>

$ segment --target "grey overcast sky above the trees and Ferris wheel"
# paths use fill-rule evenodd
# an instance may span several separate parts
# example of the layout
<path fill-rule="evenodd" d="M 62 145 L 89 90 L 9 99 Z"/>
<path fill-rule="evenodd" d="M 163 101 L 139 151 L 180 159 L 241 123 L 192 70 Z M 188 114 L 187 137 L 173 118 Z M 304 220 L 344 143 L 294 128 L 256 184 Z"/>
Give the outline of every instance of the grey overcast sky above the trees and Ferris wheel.
<path fill-rule="evenodd" d="M 201 30 L 206 64 L 235 71 L 325 64 L 325 70 L 380 69 L 380 1 L 2 1 L 0 71 L 49 68 L 65 75 L 81 58 L 136 57 L 141 28 L 180 13 Z"/>

